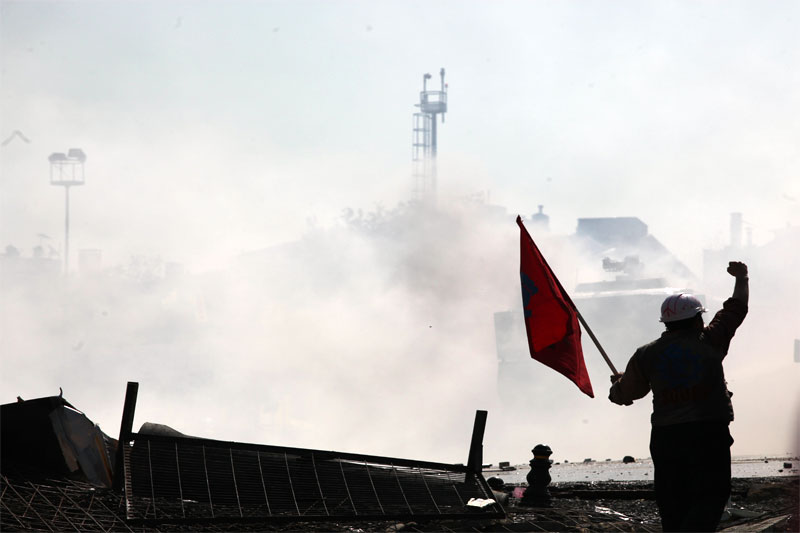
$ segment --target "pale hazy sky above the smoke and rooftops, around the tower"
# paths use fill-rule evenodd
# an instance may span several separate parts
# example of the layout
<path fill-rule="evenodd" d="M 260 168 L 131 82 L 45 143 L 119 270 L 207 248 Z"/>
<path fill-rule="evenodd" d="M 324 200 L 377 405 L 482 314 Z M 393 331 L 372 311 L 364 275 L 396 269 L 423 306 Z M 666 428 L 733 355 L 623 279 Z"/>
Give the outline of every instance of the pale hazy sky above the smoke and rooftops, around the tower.
<path fill-rule="evenodd" d="M 0 245 L 25 253 L 61 242 L 47 156 L 71 147 L 88 156 L 71 249 L 109 265 L 213 270 L 394 206 L 442 66 L 445 198 L 544 204 L 560 233 L 638 216 L 698 273 L 731 212 L 758 244 L 800 224 L 794 1 L 2 0 L 0 17 L 0 136 L 31 140 L 0 148 Z"/>

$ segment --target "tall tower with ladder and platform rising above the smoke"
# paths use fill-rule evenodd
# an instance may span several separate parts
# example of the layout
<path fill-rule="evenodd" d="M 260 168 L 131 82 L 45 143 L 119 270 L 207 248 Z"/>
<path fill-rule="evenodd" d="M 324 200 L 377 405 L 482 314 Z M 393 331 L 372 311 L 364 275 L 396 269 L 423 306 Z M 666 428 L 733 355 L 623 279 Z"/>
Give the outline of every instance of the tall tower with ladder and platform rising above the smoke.
<path fill-rule="evenodd" d="M 439 71 L 441 90 L 429 91 L 430 74 L 422 76 L 422 91 L 419 93 L 419 113 L 414 113 L 414 132 L 412 137 L 412 156 L 414 162 L 414 197 L 417 200 L 433 202 L 436 199 L 436 124 L 437 116 L 447 112 L 447 84 L 444 82 L 444 68 Z"/>

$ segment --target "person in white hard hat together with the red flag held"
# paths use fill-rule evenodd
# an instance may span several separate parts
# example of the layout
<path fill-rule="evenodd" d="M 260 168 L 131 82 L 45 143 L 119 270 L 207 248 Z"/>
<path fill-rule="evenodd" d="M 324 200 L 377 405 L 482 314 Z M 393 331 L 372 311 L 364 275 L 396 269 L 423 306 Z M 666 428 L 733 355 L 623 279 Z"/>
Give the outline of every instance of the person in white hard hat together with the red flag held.
<path fill-rule="evenodd" d="M 708 326 L 703 304 L 674 294 L 661 305 L 666 331 L 636 350 L 624 374 L 608 355 L 561 286 L 539 248 L 520 228 L 520 283 L 531 357 L 560 372 L 594 397 L 583 360 L 580 322 L 611 369 L 609 399 L 632 405 L 653 391 L 650 453 L 664 531 L 714 531 L 731 489 L 733 407 L 722 360 L 747 315 L 747 265 L 732 261 L 733 295 Z"/>

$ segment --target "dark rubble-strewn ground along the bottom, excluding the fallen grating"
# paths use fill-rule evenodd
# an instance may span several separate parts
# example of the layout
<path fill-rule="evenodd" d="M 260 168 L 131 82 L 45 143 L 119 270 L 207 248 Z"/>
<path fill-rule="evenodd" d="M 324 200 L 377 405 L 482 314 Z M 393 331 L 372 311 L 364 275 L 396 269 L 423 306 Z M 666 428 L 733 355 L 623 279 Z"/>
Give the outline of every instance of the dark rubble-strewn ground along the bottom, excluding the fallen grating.
<path fill-rule="evenodd" d="M 730 517 L 721 531 L 800 531 L 800 477 L 734 479 Z M 598 481 L 552 484 L 548 506 L 525 507 L 523 487 L 508 485 L 506 518 L 351 522 L 205 522 L 131 524 L 124 497 L 83 483 L 40 483 L 3 477 L 2 531 L 280 531 L 280 532 L 492 532 L 661 531 L 652 482 Z M 79 512 L 80 511 L 80 512 Z M 69 526 L 69 527 L 68 527 Z"/>

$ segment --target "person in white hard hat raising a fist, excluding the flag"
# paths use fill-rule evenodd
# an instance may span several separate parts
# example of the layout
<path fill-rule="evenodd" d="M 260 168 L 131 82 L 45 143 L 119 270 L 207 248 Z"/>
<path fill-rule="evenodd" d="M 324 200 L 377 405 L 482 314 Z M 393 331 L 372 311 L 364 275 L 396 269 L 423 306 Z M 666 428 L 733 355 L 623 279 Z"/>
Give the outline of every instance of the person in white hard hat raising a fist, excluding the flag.
<path fill-rule="evenodd" d="M 747 265 L 728 264 L 733 295 L 705 326 L 703 304 L 689 294 L 661 305 L 666 331 L 611 376 L 609 399 L 631 405 L 653 391 L 650 454 L 664 531 L 714 531 L 731 491 L 732 394 L 722 360 L 747 315 Z"/>

